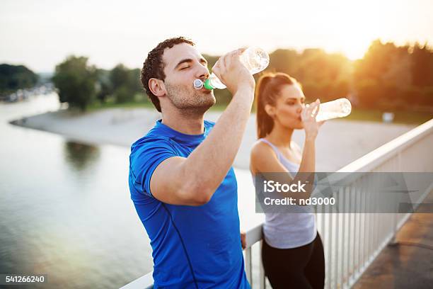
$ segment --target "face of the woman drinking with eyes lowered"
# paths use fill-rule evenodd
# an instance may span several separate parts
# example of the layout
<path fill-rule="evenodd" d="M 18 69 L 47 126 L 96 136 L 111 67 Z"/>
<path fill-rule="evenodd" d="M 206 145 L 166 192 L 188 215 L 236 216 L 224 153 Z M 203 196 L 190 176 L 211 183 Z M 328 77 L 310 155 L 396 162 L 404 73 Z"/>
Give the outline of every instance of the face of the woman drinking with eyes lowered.
<path fill-rule="evenodd" d="M 267 113 L 285 128 L 302 129 L 301 112 L 305 107 L 305 96 L 297 84 L 282 86 L 275 106 L 270 106 Z"/>

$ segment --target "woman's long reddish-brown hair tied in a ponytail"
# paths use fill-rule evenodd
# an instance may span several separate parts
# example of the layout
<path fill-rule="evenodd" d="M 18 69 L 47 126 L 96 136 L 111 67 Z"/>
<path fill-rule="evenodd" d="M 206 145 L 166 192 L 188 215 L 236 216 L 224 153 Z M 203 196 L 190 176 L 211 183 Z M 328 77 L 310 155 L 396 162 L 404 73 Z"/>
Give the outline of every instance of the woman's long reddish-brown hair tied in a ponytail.
<path fill-rule="evenodd" d="M 257 136 L 258 138 L 266 137 L 274 128 L 274 120 L 265 111 L 265 106 L 275 106 L 279 92 L 284 85 L 299 84 L 296 79 L 288 74 L 266 73 L 258 80 L 257 88 L 255 89 L 255 105 L 257 108 Z"/>

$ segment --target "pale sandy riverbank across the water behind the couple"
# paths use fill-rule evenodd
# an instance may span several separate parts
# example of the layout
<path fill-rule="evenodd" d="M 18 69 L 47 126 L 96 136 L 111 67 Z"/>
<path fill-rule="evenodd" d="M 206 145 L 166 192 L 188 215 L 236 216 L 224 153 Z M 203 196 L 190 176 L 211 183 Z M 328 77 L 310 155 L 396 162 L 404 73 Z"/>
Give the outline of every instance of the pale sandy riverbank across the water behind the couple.
<path fill-rule="evenodd" d="M 206 113 L 205 119 L 217 121 L 220 115 L 221 112 L 210 111 Z M 161 115 L 149 108 L 110 108 L 88 113 L 59 110 L 12 123 L 64 135 L 76 142 L 129 147 L 145 135 L 159 118 Z M 415 125 L 329 120 L 321 128 L 316 141 L 317 170 L 336 171 L 412 128 Z M 248 169 L 250 148 L 255 140 L 255 115 L 252 114 L 234 166 Z M 304 132 L 296 130 L 293 140 L 302 147 Z"/>

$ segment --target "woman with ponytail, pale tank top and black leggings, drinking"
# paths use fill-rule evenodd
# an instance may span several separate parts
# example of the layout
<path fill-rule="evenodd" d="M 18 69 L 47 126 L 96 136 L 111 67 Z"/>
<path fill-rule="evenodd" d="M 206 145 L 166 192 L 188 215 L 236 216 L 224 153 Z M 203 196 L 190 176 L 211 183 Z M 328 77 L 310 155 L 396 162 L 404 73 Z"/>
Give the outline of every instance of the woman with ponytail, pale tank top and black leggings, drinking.
<path fill-rule="evenodd" d="M 284 172 L 294 179 L 297 172 L 314 172 L 320 102 L 306 107 L 300 84 L 283 73 L 260 77 L 255 94 L 259 140 L 250 155 L 251 174 Z M 300 129 L 304 152 L 291 141 Z M 323 288 L 323 244 L 312 212 L 265 212 L 263 234 L 262 262 L 272 288 Z"/>

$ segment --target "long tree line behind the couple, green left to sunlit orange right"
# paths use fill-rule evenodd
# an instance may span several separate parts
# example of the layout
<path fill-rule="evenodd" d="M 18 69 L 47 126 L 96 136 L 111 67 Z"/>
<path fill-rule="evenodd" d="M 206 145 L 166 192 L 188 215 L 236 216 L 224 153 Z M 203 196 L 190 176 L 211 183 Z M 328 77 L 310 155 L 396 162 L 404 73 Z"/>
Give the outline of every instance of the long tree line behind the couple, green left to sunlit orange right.
<path fill-rule="evenodd" d="M 209 70 L 219 56 L 203 55 Z M 302 85 L 309 100 L 348 97 L 354 106 L 418 110 L 433 107 L 433 50 L 427 44 L 396 46 L 375 40 L 364 57 L 351 61 L 321 49 L 279 49 L 270 54 L 265 72 L 285 72 Z M 143 102 L 139 69 L 118 64 L 111 70 L 88 64 L 87 57 L 69 56 L 57 65 L 53 82 L 61 102 L 86 109 L 89 103 Z M 255 75 L 257 79 L 260 74 Z M 226 89 L 216 90 L 217 103 L 229 103 Z"/>

